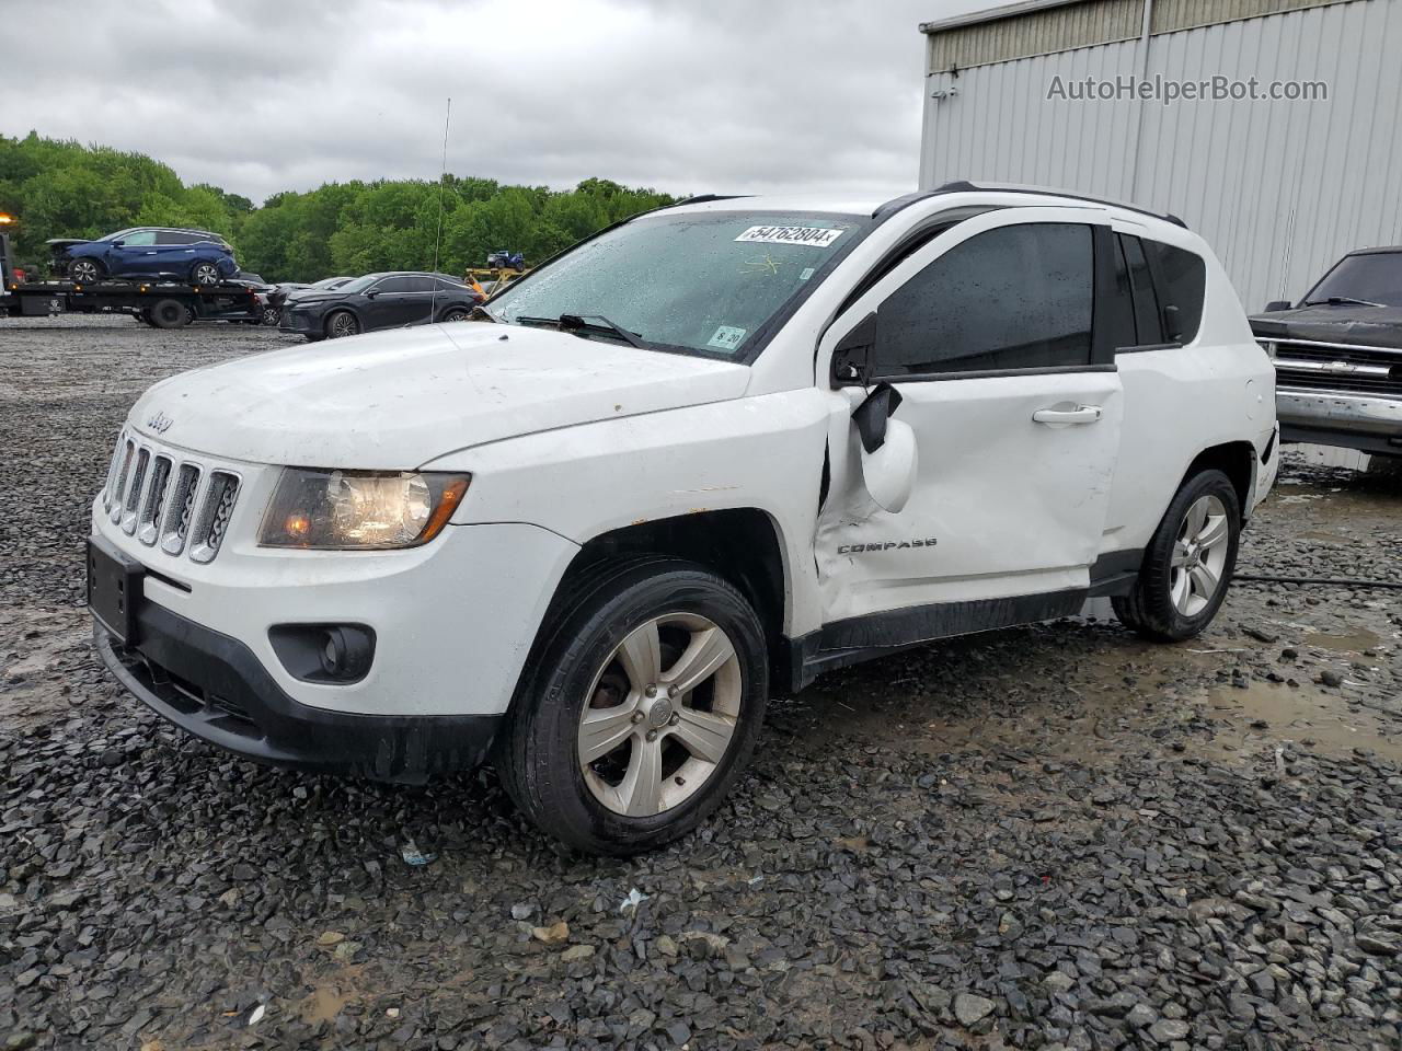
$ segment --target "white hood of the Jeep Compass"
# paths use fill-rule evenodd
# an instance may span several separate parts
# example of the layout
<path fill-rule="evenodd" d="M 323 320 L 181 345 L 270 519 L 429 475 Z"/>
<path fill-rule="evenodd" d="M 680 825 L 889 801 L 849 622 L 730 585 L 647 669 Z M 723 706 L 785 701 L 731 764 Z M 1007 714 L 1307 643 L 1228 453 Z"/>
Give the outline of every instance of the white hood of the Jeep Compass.
<path fill-rule="evenodd" d="M 272 350 L 171 377 L 130 420 L 160 441 L 264 464 L 407 469 L 541 430 L 728 401 L 742 364 L 456 322 Z M 165 430 L 146 430 L 160 416 Z"/>

